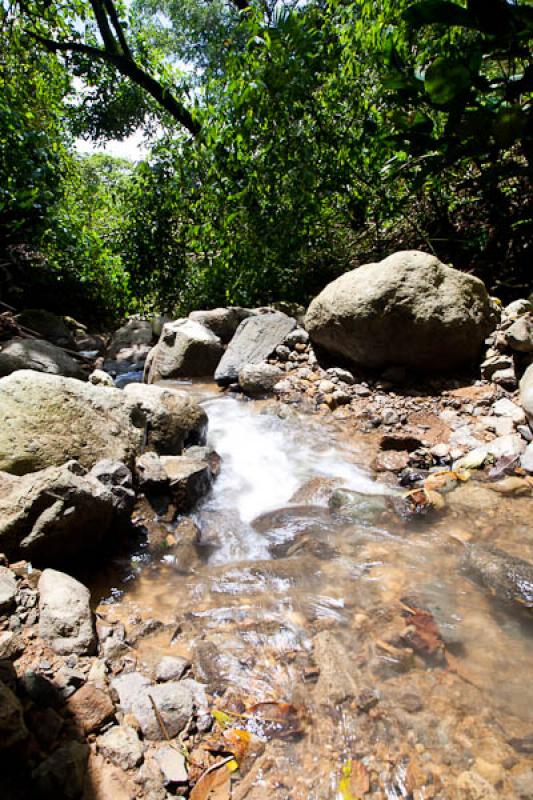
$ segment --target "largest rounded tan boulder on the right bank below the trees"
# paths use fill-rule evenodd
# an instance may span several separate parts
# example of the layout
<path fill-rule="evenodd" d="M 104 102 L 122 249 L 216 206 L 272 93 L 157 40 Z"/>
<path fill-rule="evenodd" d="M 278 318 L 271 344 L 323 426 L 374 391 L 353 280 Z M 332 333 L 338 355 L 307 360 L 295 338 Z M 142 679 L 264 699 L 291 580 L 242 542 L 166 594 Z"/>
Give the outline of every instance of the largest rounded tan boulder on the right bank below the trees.
<path fill-rule="evenodd" d="M 313 344 L 329 358 L 426 372 L 472 365 L 493 325 L 482 281 L 416 250 L 341 275 L 305 317 Z"/>

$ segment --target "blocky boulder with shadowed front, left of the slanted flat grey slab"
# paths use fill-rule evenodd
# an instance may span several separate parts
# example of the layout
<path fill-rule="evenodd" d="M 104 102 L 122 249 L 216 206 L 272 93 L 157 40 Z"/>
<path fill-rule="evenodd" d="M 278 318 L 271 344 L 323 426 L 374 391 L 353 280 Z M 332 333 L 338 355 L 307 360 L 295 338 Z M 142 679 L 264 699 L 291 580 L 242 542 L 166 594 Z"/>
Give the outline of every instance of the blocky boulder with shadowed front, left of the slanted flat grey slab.
<path fill-rule="evenodd" d="M 147 363 L 147 382 L 164 378 L 211 377 L 224 347 L 212 331 L 192 319 L 163 326 Z"/>

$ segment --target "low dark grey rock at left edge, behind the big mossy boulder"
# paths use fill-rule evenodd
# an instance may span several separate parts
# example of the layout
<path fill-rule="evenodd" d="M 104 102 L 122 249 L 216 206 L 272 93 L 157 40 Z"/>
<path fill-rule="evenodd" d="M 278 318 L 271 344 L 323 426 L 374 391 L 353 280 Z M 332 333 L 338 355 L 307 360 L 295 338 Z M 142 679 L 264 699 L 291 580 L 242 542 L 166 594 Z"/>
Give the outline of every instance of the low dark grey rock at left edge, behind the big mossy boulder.
<path fill-rule="evenodd" d="M 0 344 L 0 375 L 10 375 L 20 369 L 69 378 L 85 377 L 79 361 L 45 339 L 14 337 Z"/>

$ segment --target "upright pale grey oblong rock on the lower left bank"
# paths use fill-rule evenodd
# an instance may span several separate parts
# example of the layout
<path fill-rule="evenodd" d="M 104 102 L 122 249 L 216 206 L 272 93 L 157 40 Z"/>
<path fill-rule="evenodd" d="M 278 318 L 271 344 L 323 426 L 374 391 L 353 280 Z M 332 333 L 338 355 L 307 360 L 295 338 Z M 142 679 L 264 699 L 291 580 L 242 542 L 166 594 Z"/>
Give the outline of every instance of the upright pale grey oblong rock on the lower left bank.
<path fill-rule="evenodd" d="M 45 569 L 39 579 L 39 635 L 56 653 L 90 655 L 96 647 L 89 590 L 75 578 Z"/>

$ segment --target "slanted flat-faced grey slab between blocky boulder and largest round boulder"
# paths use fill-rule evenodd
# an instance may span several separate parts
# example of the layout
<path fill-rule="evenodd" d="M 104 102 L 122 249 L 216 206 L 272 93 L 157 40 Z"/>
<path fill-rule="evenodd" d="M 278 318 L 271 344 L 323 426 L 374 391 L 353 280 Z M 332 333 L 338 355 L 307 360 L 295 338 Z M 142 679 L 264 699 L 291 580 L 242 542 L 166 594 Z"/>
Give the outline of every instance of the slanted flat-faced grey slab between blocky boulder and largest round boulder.
<path fill-rule="evenodd" d="M 226 386 L 237 381 L 243 367 L 265 361 L 295 327 L 294 319 L 281 312 L 243 320 L 215 371 L 216 382 Z"/>

